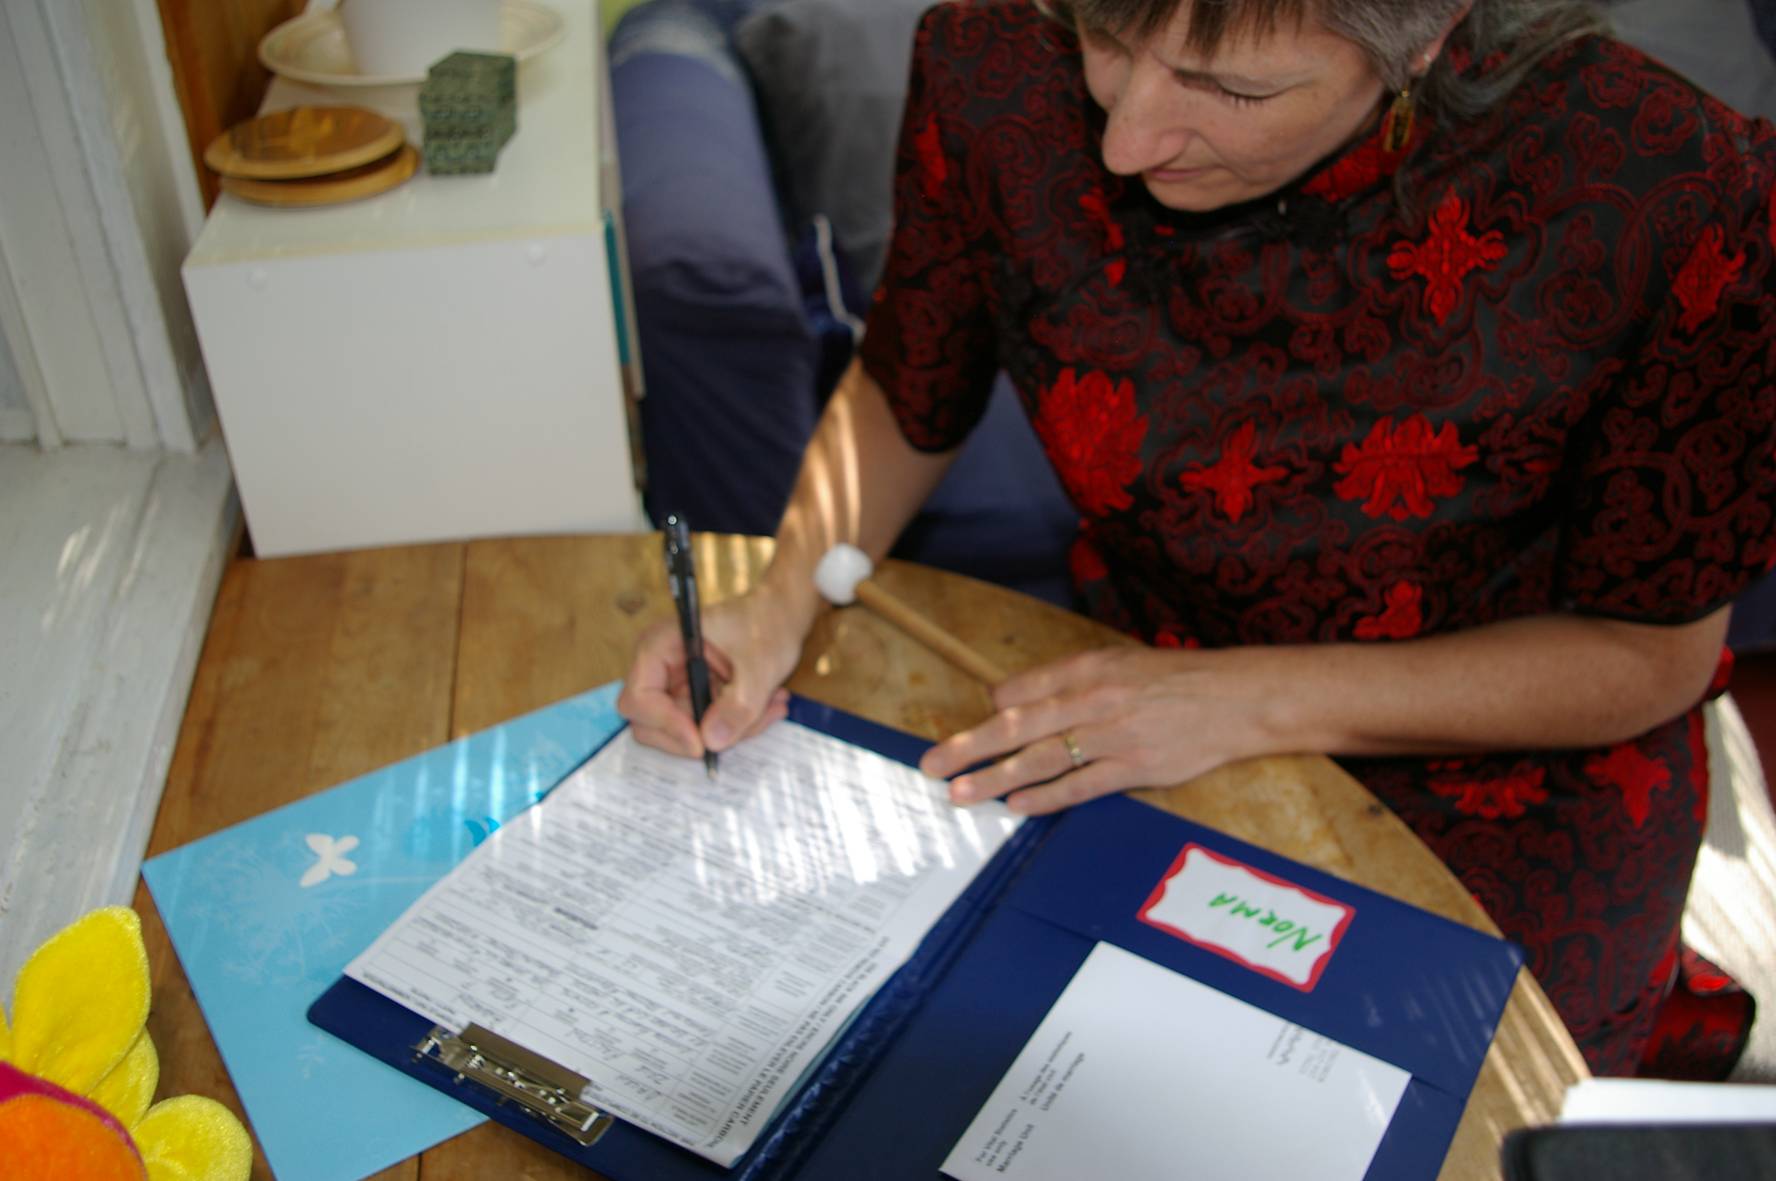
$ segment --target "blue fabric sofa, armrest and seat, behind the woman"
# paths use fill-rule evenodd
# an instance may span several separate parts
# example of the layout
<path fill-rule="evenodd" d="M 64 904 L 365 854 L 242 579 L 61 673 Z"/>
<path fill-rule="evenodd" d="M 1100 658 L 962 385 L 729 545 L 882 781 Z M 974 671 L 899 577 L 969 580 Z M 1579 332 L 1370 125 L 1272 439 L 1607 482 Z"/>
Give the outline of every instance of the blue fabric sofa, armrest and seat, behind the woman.
<path fill-rule="evenodd" d="M 611 37 L 629 277 L 646 396 L 646 506 L 776 531 L 858 293 L 797 277 L 730 30 L 757 0 L 648 0 Z M 826 259 L 831 263 L 833 259 Z M 813 298 L 810 316 L 810 298 Z M 817 332 L 817 329 L 821 329 Z M 824 350 L 824 352 L 822 352 Z M 895 552 L 1069 604 L 1074 511 L 1011 385 Z"/>

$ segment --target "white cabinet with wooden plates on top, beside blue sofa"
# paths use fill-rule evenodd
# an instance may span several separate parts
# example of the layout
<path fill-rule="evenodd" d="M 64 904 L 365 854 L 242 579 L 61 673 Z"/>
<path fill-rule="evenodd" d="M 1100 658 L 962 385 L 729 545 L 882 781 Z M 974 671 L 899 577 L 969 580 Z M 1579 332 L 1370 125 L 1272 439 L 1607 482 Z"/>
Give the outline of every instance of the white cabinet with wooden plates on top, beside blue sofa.
<path fill-rule="evenodd" d="M 496 172 L 204 224 L 185 288 L 261 556 L 646 527 L 604 46 L 554 5 Z M 277 80 L 266 110 L 341 94 Z"/>

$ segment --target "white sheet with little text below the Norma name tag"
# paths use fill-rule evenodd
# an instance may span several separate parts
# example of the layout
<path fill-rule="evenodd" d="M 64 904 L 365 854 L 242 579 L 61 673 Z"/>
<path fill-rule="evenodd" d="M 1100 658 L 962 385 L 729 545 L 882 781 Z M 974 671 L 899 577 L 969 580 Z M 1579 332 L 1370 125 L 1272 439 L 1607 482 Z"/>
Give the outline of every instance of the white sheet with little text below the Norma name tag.
<path fill-rule="evenodd" d="M 1099 943 L 943 1172 L 959 1181 L 1362 1181 L 1408 1078 Z"/>

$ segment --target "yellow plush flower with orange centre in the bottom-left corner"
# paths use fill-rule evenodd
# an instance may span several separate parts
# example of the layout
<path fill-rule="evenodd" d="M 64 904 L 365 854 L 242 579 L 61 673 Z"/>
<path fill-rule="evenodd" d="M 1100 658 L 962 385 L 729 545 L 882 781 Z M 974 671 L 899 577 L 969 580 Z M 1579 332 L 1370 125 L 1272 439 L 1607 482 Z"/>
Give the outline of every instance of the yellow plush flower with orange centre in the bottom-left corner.
<path fill-rule="evenodd" d="M 215 1099 L 151 1101 L 147 948 L 126 906 L 92 911 L 32 952 L 0 1011 L 0 1181 L 243 1181 L 252 1140 Z"/>

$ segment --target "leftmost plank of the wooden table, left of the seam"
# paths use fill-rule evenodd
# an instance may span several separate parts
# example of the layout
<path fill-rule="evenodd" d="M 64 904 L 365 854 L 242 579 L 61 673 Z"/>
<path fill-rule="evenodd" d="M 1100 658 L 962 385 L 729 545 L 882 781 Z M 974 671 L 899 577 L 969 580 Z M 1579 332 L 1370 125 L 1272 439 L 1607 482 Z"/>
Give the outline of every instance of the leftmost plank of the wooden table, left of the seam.
<path fill-rule="evenodd" d="M 229 567 L 149 854 L 448 741 L 462 547 Z M 146 886 L 160 1094 L 245 1112 Z M 254 1177 L 270 1177 L 256 1151 Z M 412 1181 L 417 1163 L 382 1174 Z"/>

